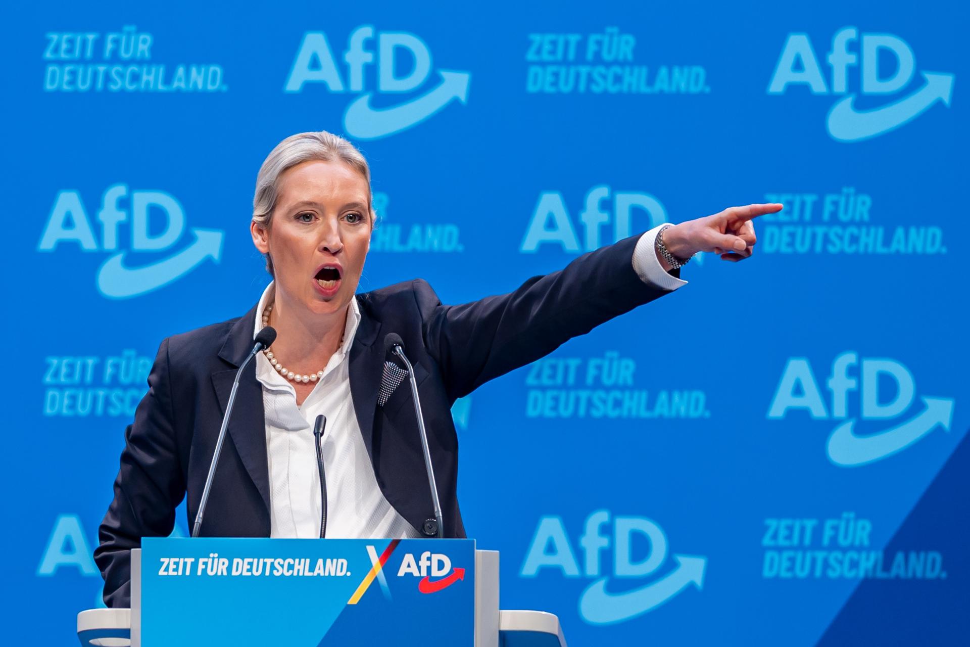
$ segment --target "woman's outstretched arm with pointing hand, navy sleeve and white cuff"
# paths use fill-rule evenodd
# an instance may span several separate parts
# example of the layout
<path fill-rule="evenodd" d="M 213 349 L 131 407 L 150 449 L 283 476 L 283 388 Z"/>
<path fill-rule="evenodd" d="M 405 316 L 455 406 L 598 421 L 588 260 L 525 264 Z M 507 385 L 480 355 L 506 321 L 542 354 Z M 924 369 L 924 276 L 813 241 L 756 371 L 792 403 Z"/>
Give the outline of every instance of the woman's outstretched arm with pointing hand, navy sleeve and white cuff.
<path fill-rule="evenodd" d="M 685 260 L 698 251 L 741 260 L 756 243 L 752 218 L 778 210 L 781 205 L 727 209 L 666 228 L 663 243 Z M 548 355 L 566 340 L 669 293 L 681 281 L 675 276 L 652 279 L 649 263 L 659 262 L 663 270 L 671 266 L 655 251 L 656 231 L 648 234 L 583 254 L 563 270 L 533 276 L 508 294 L 461 306 L 441 305 L 427 283 L 417 282 L 425 344 L 444 373 L 449 396 L 468 395 L 486 381 Z"/>

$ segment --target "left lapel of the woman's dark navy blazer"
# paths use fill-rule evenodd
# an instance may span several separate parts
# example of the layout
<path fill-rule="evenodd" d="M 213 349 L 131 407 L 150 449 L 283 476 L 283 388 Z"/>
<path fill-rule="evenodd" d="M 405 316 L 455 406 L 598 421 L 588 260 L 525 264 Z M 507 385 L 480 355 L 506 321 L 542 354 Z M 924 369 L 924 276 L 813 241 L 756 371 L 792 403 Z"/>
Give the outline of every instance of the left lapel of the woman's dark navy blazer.
<path fill-rule="evenodd" d="M 252 335 L 256 322 L 256 308 L 253 307 L 230 329 L 229 336 L 219 350 L 219 357 L 229 364 L 239 367 L 252 350 Z M 225 415 L 233 380 L 238 369 L 212 373 L 212 386 Z M 216 430 L 218 431 L 218 430 Z M 266 509 L 270 509 L 270 468 L 266 449 L 266 416 L 263 411 L 263 388 L 256 379 L 256 360 L 249 362 L 240 376 L 236 391 L 236 404 L 233 405 L 227 433 L 236 445 L 242 465 L 256 484 Z"/>

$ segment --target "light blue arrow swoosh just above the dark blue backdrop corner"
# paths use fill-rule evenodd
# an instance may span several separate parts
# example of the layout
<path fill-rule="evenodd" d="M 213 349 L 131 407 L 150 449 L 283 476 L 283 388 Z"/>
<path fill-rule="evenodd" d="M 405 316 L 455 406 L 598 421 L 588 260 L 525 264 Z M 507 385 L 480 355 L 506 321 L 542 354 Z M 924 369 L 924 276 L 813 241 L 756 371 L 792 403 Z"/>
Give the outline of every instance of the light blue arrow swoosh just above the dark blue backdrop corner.
<path fill-rule="evenodd" d="M 856 436 L 850 420 L 835 428 L 828 437 L 828 460 L 842 468 L 855 468 L 895 454 L 929 434 L 937 425 L 950 431 L 954 416 L 954 401 L 944 398 L 923 398 L 926 404 L 919 414 L 903 424 L 879 434 Z"/>

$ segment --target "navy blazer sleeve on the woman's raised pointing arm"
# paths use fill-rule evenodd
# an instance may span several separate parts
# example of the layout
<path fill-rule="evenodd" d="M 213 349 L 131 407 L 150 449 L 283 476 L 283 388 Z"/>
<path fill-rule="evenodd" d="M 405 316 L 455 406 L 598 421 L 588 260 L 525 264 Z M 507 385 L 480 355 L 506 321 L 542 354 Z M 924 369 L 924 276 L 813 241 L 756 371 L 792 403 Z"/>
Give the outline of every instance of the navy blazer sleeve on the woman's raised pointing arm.
<path fill-rule="evenodd" d="M 633 270 L 638 240 L 633 236 L 600 247 L 508 294 L 461 306 L 442 306 L 428 283 L 415 281 L 425 345 L 441 368 L 449 397 L 464 397 L 566 340 L 668 294 Z"/>

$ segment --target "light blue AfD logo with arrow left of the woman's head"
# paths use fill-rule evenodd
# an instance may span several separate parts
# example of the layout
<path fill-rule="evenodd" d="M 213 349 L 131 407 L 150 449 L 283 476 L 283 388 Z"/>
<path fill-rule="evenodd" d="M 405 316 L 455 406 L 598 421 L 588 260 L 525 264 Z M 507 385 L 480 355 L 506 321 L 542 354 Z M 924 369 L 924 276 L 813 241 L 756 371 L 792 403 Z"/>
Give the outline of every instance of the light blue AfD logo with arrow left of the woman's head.
<path fill-rule="evenodd" d="M 126 184 L 105 190 L 92 219 L 84 209 L 81 193 L 58 191 L 47 225 L 37 246 L 39 252 L 58 251 L 60 245 L 77 245 L 83 252 L 108 253 L 97 271 L 98 291 L 109 299 L 138 297 L 168 285 L 211 259 L 222 257 L 223 232 L 193 227 L 191 240 L 169 251 L 185 232 L 185 210 L 165 191 L 130 191 Z M 130 237 L 123 236 L 122 226 Z M 128 256 L 139 252 L 137 264 Z M 150 255 L 141 260 L 141 253 Z M 164 255 L 159 258 L 160 254 Z"/>

